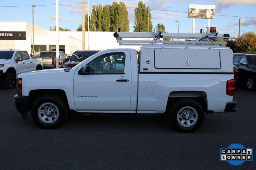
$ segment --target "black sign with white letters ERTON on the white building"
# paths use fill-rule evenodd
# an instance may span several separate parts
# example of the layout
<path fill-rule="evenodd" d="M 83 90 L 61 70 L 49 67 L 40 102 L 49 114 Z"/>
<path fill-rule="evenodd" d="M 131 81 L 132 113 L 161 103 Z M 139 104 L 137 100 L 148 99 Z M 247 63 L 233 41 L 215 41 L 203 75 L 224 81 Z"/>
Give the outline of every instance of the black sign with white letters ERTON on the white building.
<path fill-rule="evenodd" d="M 26 40 L 26 31 L 0 31 L 0 40 Z"/>

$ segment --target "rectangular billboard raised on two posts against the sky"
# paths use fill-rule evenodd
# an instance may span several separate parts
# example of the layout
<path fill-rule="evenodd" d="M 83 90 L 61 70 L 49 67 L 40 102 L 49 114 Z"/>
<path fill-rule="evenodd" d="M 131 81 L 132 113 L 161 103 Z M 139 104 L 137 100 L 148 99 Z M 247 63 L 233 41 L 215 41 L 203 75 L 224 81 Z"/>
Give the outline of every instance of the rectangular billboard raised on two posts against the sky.
<path fill-rule="evenodd" d="M 215 5 L 193 5 L 188 7 L 188 18 L 215 18 Z"/>

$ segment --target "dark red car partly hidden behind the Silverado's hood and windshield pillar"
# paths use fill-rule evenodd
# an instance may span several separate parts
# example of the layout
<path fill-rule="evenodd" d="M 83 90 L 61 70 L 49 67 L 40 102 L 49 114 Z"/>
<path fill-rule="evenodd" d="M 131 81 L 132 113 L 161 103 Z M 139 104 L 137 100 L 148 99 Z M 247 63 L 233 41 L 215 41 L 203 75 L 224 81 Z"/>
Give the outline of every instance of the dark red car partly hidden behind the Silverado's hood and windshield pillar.
<path fill-rule="evenodd" d="M 64 64 L 64 68 L 67 67 L 74 67 L 77 64 L 81 63 L 82 61 L 84 61 L 85 59 L 87 59 L 88 57 L 98 53 L 99 51 L 94 51 L 94 50 L 86 50 L 86 51 L 82 51 L 82 50 L 78 50 L 75 51 L 73 53 L 73 55 L 70 57 L 69 61 L 67 63 Z"/>

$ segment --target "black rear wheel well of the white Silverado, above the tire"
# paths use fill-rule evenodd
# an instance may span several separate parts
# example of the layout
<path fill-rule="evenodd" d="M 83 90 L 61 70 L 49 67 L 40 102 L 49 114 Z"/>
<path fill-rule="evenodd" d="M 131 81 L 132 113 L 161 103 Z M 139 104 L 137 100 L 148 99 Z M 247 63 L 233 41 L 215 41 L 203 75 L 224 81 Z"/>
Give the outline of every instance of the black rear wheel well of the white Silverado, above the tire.
<path fill-rule="evenodd" d="M 166 110 L 170 107 L 172 103 L 174 103 L 176 100 L 181 99 L 181 98 L 193 98 L 197 102 L 199 102 L 204 111 L 208 111 L 207 107 L 207 95 L 205 92 L 202 91 L 175 91 L 175 92 L 170 92 L 168 96 L 168 101 L 167 101 L 167 106 Z"/>

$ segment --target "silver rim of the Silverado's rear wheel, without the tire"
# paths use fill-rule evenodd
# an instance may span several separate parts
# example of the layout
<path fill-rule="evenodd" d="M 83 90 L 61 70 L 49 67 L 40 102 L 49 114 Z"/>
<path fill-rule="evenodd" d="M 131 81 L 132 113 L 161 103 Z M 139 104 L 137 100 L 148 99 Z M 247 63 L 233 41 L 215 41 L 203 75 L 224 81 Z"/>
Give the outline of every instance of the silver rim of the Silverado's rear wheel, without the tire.
<path fill-rule="evenodd" d="M 182 107 L 177 114 L 177 121 L 183 127 L 191 127 L 198 120 L 198 113 L 194 107 Z"/>

